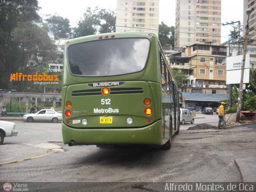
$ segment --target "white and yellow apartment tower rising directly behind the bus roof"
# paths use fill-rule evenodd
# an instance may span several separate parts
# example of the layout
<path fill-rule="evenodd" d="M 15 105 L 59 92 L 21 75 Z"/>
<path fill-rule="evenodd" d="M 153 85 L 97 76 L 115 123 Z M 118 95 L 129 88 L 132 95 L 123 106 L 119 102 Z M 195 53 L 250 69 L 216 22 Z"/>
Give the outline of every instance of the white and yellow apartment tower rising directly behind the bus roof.
<path fill-rule="evenodd" d="M 117 0 L 116 32 L 158 34 L 159 0 Z"/>

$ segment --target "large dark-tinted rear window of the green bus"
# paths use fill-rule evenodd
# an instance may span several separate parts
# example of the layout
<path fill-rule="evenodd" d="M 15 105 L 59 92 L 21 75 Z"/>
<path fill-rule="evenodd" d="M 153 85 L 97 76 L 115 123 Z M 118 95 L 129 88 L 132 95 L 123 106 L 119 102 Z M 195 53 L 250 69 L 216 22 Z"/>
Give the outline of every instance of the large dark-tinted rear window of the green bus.
<path fill-rule="evenodd" d="M 71 73 L 82 76 L 114 76 L 139 72 L 148 58 L 146 38 L 120 38 L 84 42 L 68 47 Z"/>

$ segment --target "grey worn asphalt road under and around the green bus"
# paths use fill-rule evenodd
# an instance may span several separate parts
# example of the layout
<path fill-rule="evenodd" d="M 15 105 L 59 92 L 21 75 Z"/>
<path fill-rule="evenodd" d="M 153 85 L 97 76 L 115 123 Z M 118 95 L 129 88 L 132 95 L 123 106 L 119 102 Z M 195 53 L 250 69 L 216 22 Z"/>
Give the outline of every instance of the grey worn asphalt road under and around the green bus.
<path fill-rule="evenodd" d="M 196 119 L 195 124 L 216 121 L 216 115 L 208 116 L 204 120 Z M 255 123 L 228 130 L 184 130 L 185 126 L 193 125 L 182 125 L 180 133 L 173 137 L 170 150 L 145 146 L 69 147 L 62 143 L 61 123 L 15 123 L 18 136 L 5 138 L 0 154 L 13 156 L 19 152 L 30 156 L 36 144 L 47 143 L 64 149 L 64 152 L 0 166 L 1 182 L 40 182 L 34 184 L 37 191 L 84 188 L 80 183 L 74 186 L 69 182 L 87 182 L 86 191 L 164 191 L 166 182 L 242 182 L 235 160 L 256 157 Z M 3 151 L 4 148 L 8 151 Z"/>

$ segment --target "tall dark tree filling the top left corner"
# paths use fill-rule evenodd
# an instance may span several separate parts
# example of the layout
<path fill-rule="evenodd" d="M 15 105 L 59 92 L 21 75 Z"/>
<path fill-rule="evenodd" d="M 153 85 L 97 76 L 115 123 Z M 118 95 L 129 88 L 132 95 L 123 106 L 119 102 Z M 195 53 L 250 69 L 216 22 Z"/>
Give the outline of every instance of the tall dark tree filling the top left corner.
<path fill-rule="evenodd" d="M 37 0 L 0 0 L 0 88 L 10 90 L 10 74 L 20 66 L 20 42 L 14 30 L 22 22 L 38 20 Z"/>

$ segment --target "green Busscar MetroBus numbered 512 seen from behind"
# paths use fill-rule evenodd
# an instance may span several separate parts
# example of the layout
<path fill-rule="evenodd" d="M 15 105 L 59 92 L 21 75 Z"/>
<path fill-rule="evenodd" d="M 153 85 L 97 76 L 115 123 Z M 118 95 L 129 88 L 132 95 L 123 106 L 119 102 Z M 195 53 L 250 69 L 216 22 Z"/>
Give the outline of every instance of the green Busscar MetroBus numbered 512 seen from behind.
<path fill-rule="evenodd" d="M 64 144 L 171 148 L 180 128 L 178 87 L 156 34 L 71 39 L 62 81 Z"/>

